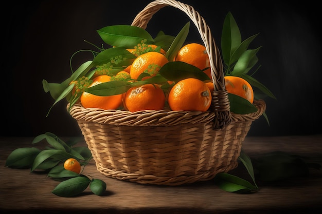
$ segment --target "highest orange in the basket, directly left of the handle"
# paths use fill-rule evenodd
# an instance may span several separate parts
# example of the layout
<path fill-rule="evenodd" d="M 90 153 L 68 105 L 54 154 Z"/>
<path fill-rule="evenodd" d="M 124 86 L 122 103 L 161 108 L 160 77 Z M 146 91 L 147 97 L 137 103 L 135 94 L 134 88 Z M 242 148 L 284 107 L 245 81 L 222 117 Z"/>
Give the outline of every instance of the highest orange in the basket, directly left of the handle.
<path fill-rule="evenodd" d="M 201 70 L 208 68 L 204 70 L 204 73 L 212 80 L 209 56 L 205 46 L 198 43 L 189 43 L 178 51 L 175 61 L 188 63 Z"/>

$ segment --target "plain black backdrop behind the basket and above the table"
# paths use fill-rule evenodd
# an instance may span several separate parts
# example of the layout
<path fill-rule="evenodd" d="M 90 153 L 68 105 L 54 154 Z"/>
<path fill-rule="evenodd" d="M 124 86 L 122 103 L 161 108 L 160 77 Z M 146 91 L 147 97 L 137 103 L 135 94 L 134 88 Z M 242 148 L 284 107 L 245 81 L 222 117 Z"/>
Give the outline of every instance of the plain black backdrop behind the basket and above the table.
<path fill-rule="evenodd" d="M 78 50 L 101 46 L 96 30 L 109 25 L 130 25 L 151 1 L 28 1 L 8 3 L 2 13 L 2 136 L 35 137 L 52 132 L 59 137 L 81 135 L 76 121 L 61 101 L 53 104 L 42 80 L 60 83 L 70 75 L 69 59 Z M 248 135 L 320 134 L 321 34 L 320 11 L 313 2 L 189 1 L 206 20 L 220 46 L 222 24 L 230 11 L 242 40 L 260 33 L 251 48 L 262 65 L 255 77 L 276 96 L 265 98 L 266 114 L 255 121 Z M 6 13 L 5 11 L 6 10 Z M 189 21 L 185 13 L 166 7 L 158 11 L 147 30 L 176 35 Z M 202 42 L 193 25 L 187 42 Z M 91 60 L 79 54 L 72 66 Z"/>

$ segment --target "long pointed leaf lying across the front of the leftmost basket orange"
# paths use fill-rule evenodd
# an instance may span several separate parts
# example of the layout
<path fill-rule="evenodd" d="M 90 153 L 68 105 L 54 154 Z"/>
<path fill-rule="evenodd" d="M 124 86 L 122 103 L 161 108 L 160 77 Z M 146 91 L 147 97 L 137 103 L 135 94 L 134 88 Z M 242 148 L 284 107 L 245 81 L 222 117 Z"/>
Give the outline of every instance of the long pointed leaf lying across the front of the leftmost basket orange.
<path fill-rule="evenodd" d="M 110 81 L 106 83 L 100 83 L 85 91 L 99 96 L 110 96 L 115 94 L 122 94 L 127 92 L 132 87 L 132 84 L 127 81 Z"/>

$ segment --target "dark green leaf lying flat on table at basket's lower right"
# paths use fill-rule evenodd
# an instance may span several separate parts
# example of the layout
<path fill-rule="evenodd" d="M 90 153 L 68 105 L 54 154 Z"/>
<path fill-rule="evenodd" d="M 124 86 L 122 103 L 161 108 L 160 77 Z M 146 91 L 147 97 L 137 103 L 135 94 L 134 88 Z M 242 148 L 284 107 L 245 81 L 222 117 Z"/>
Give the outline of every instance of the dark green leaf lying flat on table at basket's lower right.
<path fill-rule="evenodd" d="M 248 181 L 225 172 L 216 174 L 214 183 L 227 192 L 251 193 L 258 191 L 258 188 Z"/>

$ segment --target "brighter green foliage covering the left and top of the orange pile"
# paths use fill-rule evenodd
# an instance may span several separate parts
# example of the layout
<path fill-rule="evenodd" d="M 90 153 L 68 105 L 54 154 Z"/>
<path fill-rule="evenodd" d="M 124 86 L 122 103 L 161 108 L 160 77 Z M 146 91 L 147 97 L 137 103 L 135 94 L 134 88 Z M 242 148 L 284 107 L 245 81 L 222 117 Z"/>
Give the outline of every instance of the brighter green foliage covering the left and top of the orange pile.
<path fill-rule="evenodd" d="M 131 65 L 133 60 L 135 59 L 135 55 L 130 53 L 127 50 L 127 48 L 135 47 L 138 43 L 140 43 L 138 41 L 142 40 L 149 41 L 151 42 L 151 44 L 162 45 L 162 47 L 167 51 L 167 58 L 169 59 L 169 61 L 171 61 L 170 59 L 173 59 L 177 51 L 180 50 L 180 48 L 183 46 L 189 32 L 189 26 L 190 23 L 188 22 L 183 27 L 183 29 L 177 34 L 176 37 L 165 35 L 162 31 L 160 31 L 155 39 L 153 39 L 152 36 L 146 30 L 135 26 L 116 25 L 104 27 L 98 30 L 98 33 L 102 37 L 102 40 L 109 46 L 118 45 L 118 47 L 108 49 L 97 47 L 99 49 L 99 52 L 91 51 L 94 55 L 93 61 L 87 61 L 83 63 L 64 82 L 58 84 L 48 83 L 46 80 L 43 80 L 44 91 L 50 92 L 52 98 L 55 99 L 55 103 L 53 105 L 66 98 L 68 102 L 71 104 L 71 107 L 80 98 L 82 92 L 81 91 L 78 94 L 76 94 L 76 97 L 71 96 L 71 92 L 75 86 L 75 83 L 73 83 L 74 81 L 78 80 L 83 76 L 86 76 L 88 79 L 91 79 L 91 77 L 96 71 L 97 66 L 101 66 L 103 64 L 109 64 L 114 69 L 121 68 L 121 66 Z M 162 38 L 162 40 L 160 38 Z M 167 47 L 169 48 L 167 49 Z M 140 78 L 142 77 L 143 76 L 141 76 Z M 135 83 L 129 83 L 128 81 L 122 81 L 122 83 L 120 83 L 120 81 L 116 81 L 116 83 L 104 83 L 101 86 L 93 87 L 91 89 L 87 89 L 86 91 L 96 95 L 114 95 L 124 93 L 130 87 L 133 86 L 149 83 L 159 84 L 165 82 L 167 82 L 167 80 L 163 76 L 157 75 L 155 78 L 152 78 L 148 81 L 137 81 Z"/>

